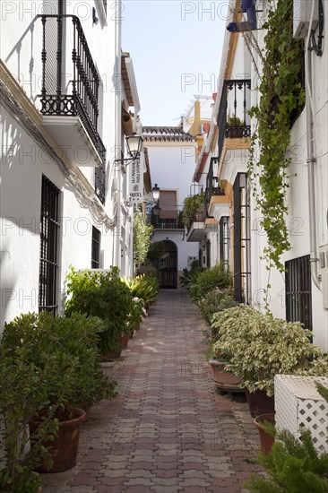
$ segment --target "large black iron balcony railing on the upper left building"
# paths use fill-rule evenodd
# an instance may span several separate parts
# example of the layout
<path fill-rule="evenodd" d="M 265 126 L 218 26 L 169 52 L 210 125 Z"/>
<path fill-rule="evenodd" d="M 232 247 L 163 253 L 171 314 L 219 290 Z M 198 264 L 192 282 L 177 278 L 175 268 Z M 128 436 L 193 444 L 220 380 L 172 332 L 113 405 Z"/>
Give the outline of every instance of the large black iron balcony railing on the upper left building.
<path fill-rule="evenodd" d="M 104 163 L 106 149 L 97 130 L 100 81 L 81 22 L 75 15 L 40 17 L 41 113 L 45 116 L 79 117 Z"/>

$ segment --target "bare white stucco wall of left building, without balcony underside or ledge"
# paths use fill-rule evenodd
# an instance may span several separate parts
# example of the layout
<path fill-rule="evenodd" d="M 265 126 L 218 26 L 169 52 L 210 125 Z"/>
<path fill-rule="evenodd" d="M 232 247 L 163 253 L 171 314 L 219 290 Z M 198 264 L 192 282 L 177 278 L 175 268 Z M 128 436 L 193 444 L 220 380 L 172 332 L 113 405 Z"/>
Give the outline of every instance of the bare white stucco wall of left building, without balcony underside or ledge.
<path fill-rule="evenodd" d="M 49 2 L 46 2 L 49 6 Z M 55 2 L 54 2 L 55 4 Z M 102 4 L 96 3 L 98 5 Z M 99 88 L 99 134 L 107 148 L 106 183 L 107 202 L 103 211 L 110 220 L 117 216 L 117 195 L 122 194 L 118 180 L 117 190 L 113 178 L 117 174 L 113 160 L 117 158 L 116 135 L 121 132 L 121 124 L 116 120 L 116 91 L 113 74 L 116 73 L 117 29 L 119 22 L 115 16 L 116 2 L 108 2 L 108 25 L 92 23 L 92 7 L 95 2 L 68 2 L 68 14 L 78 15 L 82 23 L 91 56 L 97 67 L 101 84 Z M 78 9 L 78 12 L 76 11 Z M 4 1 L 1 3 L 2 36 L 1 58 L 13 78 L 32 103 L 39 108 L 41 91 L 41 20 L 42 0 L 33 2 Z M 55 13 L 55 11 L 54 11 Z M 69 30 L 66 32 L 69 35 Z M 54 39 L 54 46 L 56 39 Z M 67 41 L 67 48 L 69 42 Z M 100 49 L 100 47 L 107 47 Z M 120 53 L 120 47 L 118 48 Z M 67 64 L 71 53 L 67 53 Z M 69 64 L 68 64 L 69 65 Z M 67 65 L 67 66 L 68 66 Z M 69 74 L 67 74 L 69 78 Z M 8 89 L 11 84 L 8 82 Z M 22 95 L 23 99 L 23 95 Z M 9 321 L 22 312 L 38 311 L 39 308 L 39 221 L 42 174 L 51 180 L 61 191 L 60 195 L 60 238 L 58 257 L 60 272 L 57 287 L 59 311 L 61 291 L 70 265 L 76 269 L 91 267 L 92 225 L 101 232 L 100 267 L 108 268 L 120 259 L 121 244 L 123 255 L 127 255 L 125 272 L 132 272 L 132 223 L 117 221 L 117 226 L 107 229 L 102 215 L 91 210 L 92 191 L 84 189 L 77 193 L 69 184 L 57 163 L 53 161 L 39 142 L 25 131 L 7 108 L 1 108 L 1 317 L 0 332 L 4 320 Z M 117 125 L 118 122 L 118 125 Z M 119 136 L 120 140 L 120 136 Z M 68 143 L 69 144 L 69 143 Z M 90 185 L 94 185 L 94 168 L 80 167 Z M 92 199 L 94 200 L 94 198 Z M 99 211 L 101 206 L 99 207 Z M 118 214 L 119 218 L 119 214 Z M 121 225 L 125 226 L 124 241 L 120 241 Z M 115 247 L 117 245 L 117 247 Z"/>

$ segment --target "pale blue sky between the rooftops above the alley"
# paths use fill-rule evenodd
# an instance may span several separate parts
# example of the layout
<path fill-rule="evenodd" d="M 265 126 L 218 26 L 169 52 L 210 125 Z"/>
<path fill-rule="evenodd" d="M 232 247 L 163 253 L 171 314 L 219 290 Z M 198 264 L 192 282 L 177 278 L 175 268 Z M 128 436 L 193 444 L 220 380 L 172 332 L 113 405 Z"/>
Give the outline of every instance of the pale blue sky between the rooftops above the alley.
<path fill-rule="evenodd" d="M 216 91 L 228 0 L 122 0 L 142 125 L 178 125 L 194 94 Z"/>

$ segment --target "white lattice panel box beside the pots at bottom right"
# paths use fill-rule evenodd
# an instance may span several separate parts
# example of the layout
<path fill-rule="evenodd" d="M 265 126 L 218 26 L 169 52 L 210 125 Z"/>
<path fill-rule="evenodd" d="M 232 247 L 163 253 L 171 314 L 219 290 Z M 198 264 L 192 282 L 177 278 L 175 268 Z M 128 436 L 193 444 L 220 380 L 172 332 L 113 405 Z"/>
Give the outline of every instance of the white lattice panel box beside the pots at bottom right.
<path fill-rule="evenodd" d="M 328 387 L 325 376 L 276 375 L 274 408 L 277 429 L 289 429 L 299 437 L 299 428 L 311 431 L 318 452 L 328 452 L 328 403 L 318 393 L 315 382 Z"/>

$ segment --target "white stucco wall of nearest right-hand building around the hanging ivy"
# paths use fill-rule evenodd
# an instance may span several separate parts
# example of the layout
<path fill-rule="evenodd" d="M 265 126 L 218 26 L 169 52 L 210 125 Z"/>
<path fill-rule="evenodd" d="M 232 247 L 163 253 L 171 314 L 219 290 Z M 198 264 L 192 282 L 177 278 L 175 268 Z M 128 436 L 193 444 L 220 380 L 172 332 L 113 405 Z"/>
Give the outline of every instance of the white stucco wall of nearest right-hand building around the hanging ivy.
<path fill-rule="evenodd" d="M 324 23 L 328 22 L 328 13 L 324 12 Z M 256 37 L 263 45 L 263 32 L 258 31 Z M 328 72 L 327 50 L 324 49 L 323 56 L 315 56 L 311 53 L 312 61 L 312 96 L 314 109 L 314 146 L 315 146 L 315 218 L 317 226 L 318 247 L 328 243 L 328 83 L 321 74 Z M 259 61 L 258 61 L 259 63 Z M 259 64 L 260 65 L 260 64 Z M 256 78 L 252 69 L 252 80 Z M 256 93 L 253 93 L 254 96 Z M 253 103 L 255 103 L 255 98 Z M 308 177 L 307 177 L 307 147 L 306 147 L 306 109 L 303 110 L 298 120 L 291 129 L 290 156 L 292 162 L 289 167 L 289 190 L 287 193 L 287 203 L 289 214 L 287 225 L 289 228 L 289 240 L 291 248 L 289 252 L 281 256 L 281 262 L 295 259 L 310 254 L 310 218 L 308 201 Z M 296 176 L 294 176 L 296 175 Z M 253 201 L 253 208 L 255 203 Z M 259 212 L 252 211 L 252 224 L 255 224 Z M 252 231 L 252 292 L 253 298 L 259 299 L 258 293 L 263 294 L 263 289 L 267 285 L 268 272 L 265 264 L 260 260 L 260 256 L 265 247 L 265 235 L 263 231 L 255 227 Z M 318 252 L 317 252 L 318 255 Z M 322 273 L 319 270 L 319 274 Z M 323 272 L 324 274 L 324 272 Z M 270 308 L 274 316 L 284 318 L 286 316 L 285 306 L 285 276 L 272 270 L 270 277 Z M 314 342 L 324 350 L 328 350 L 328 311 L 323 307 L 322 290 L 318 290 L 315 282 L 312 281 L 312 319 Z M 263 298 L 263 296 L 262 296 Z"/>

